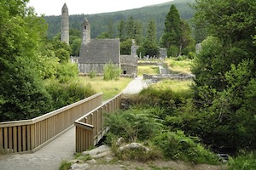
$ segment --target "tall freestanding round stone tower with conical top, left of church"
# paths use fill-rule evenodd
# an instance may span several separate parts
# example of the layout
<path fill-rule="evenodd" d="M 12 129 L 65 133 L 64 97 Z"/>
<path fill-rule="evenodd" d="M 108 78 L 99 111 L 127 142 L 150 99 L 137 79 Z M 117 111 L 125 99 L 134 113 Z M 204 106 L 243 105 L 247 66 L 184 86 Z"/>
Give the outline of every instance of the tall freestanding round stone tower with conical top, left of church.
<path fill-rule="evenodd" d="M 69 20 L 66 3 L 64 3 L 61 9 L 61 42 L 67 42 L 69 44 Z"/>

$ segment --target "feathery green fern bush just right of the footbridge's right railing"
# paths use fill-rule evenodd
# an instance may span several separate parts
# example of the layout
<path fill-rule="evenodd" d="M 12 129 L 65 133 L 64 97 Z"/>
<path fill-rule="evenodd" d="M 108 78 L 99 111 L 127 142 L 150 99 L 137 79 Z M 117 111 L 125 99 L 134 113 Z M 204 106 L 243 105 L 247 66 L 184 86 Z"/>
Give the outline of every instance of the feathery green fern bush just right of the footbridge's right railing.
<path fill-rule="evenodd" d="M 162 124 L 160 120 L 150 114 L 154 109 L 136 109 L 117 111 L 107 114 L 106 123 L 110 133 L 123 137 L 126 141 L 145 140 L 160 133 Z"/>

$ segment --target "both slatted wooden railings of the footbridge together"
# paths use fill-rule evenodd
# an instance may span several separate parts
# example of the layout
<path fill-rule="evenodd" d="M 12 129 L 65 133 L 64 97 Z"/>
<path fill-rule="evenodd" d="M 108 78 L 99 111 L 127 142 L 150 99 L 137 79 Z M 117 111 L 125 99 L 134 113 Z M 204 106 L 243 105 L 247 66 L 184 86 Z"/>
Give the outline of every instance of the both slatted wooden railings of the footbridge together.
<path fill-rule="evenodd" d="M 95 94 L 31 120 L 0 122 L 0 152 L 35 152 L 73 126 L 76 130 L 74 151 L 87 150 L 107 133 L 103 114 L 119 110 L 121 95 L 102 102 L 102 93 Z"/>

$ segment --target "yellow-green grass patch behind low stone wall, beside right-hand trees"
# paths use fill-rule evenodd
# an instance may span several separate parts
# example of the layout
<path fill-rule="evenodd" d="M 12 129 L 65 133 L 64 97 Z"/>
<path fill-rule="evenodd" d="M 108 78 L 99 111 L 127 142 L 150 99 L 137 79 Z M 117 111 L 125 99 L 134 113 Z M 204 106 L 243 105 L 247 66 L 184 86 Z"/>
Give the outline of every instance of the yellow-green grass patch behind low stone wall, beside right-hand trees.
<path fill-rule="evenodd" d="M 170 70 L 180 73 L 190 74 L 190 67 L 192 64 L 192 59 L 177 60 L 177 59 L 166 59 L 166 63 Z"/>

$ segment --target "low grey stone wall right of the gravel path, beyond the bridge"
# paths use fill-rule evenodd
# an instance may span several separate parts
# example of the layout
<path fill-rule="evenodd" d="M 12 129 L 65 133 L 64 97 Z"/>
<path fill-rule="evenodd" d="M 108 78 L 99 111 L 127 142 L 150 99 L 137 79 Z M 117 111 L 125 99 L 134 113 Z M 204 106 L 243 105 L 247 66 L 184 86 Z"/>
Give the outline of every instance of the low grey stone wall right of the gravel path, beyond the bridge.
<path fill-rule="evenodd" d="M 153 82 L 159 82 L 161 80 L 192 80 L 195 77 L 193 74 L 166 74 L 166 75 L 148 75 L 143 74 L 143 79 L 150 79 Z"/>

